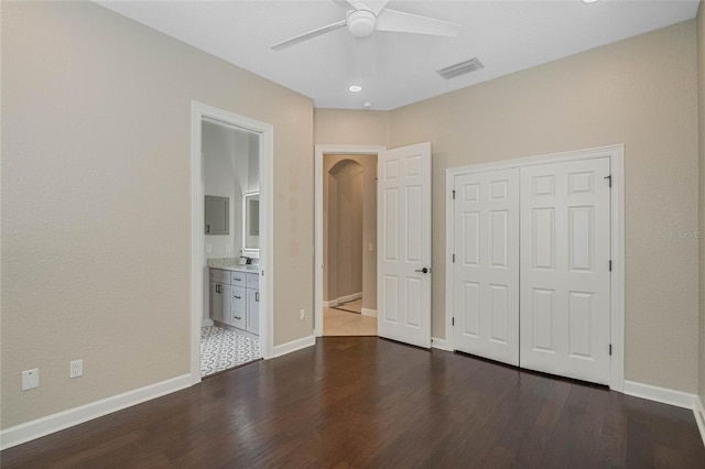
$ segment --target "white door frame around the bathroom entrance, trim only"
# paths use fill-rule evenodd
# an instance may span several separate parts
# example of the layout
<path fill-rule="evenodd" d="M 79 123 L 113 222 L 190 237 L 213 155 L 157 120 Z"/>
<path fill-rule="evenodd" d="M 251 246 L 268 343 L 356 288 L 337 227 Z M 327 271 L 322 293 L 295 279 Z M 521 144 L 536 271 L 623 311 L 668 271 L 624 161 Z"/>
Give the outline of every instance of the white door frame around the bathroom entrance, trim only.
<path fill-rule="evenodd" d="M 200 327 L 204 317 L 203 269 L 205 265 L 204 182 L 202 155 L 202 121 L 216 120 L 259 134 L 260 151 L 260 232 L 264 233 L 260 250 L 260 345 L 262 358 L 274 356 L 274 288 L 273 279 L 274 236 L 273 226 L 274 187 L 274 128 L 235 112 L 191 101 L 191 377 L 193 384 L 200 382 Z"/>

